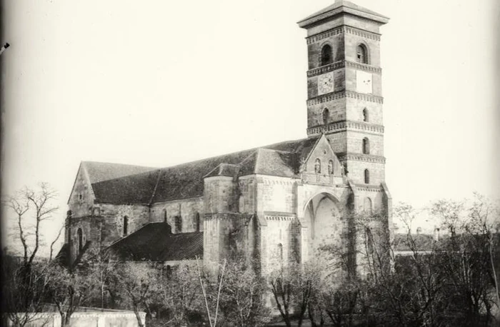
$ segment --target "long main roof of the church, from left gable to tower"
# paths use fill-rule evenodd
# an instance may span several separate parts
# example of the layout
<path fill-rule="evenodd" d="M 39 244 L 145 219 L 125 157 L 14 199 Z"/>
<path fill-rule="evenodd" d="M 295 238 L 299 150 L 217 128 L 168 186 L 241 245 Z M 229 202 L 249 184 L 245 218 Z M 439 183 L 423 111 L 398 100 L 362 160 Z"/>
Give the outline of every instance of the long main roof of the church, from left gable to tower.
<path fill-rule="evenodd" d="M 317 140 L 285 141 L 161 169 L 89 161 L 82 164 L 89 172 L 96 201 L 148 204 L 203 196 L 204 178 L 209 176 L 258 173 L 294 177 Z"/>

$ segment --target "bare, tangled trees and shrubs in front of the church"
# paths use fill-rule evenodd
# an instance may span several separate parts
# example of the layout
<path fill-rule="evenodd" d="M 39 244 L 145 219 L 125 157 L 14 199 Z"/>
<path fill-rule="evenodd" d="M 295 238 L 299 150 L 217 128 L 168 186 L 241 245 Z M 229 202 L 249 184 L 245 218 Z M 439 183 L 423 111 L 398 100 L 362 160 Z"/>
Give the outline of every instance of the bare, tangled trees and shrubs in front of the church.
<path fill-rule="evenodd" d="M 124 262 L 99 247 L 69 268 L 39 258 L 41 225 L 56 210 L 55 195 L 44 184 L 4 203 L 16 213 L 22 245 L 21 256 L 2 264 L 4 318 L 14 326 L 29 325 L 48 307 L 69 326 L 81 306 L 134 311 L 139 326 L 141 311 L 148 326 L 264 326 L 276 316 L 286 326 L 499 323 L 499 206 L 481 196 L 431 203 L 431 217 L 446 231 L 431 241 L 410 232 L 416 211 L 404 203 L 393 211 L 406 226 L 397 240 L 384 215 L 351 212 L 344 215 L 351 222 L 345 237 L 355 234 L 354 246 L 326 242 L 321 260 L 279 262 L 262 276 L 258 264 L 239 256 L 215 268 Z"/>

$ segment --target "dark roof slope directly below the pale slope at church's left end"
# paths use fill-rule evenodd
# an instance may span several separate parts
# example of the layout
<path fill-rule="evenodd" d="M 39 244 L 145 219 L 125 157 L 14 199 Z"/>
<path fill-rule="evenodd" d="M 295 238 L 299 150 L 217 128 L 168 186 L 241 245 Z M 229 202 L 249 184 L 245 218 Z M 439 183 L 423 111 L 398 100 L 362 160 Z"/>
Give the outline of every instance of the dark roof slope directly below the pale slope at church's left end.
<path fill-rule="evenodd" d="M 93 183 L 96 201 L 148 204 L 158 182 L 159 170 Z"/>

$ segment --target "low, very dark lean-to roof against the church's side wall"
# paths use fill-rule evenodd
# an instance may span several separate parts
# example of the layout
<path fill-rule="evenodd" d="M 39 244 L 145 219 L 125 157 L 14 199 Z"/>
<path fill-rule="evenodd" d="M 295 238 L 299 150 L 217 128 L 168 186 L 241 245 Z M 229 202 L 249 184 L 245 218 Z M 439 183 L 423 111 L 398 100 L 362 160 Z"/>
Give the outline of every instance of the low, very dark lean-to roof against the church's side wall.
<path fill-rule="evenodd" d="M 203 232 L 171 233 L 168 223 L 148 223 L 111 246 L 129 261 L 178 261 L 203 258 Z"/>

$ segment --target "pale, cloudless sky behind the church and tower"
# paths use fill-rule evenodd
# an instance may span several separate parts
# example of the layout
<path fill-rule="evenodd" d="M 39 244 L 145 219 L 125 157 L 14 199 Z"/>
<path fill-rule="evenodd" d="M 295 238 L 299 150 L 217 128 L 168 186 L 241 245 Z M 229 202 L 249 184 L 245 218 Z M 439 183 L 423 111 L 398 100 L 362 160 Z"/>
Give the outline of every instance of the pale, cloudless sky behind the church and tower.
<path fill-rule="evenodd" d="M 381 27 L 386 183 L 423 208 L 500 194 L 500 4 L 357 0 Z M 5 0 L 3 195 L 81 161 L 165 167 L 306 137 L 306 31 L 333 0 Z M 8 216 L 4 216 L 4 220 Z"/>

